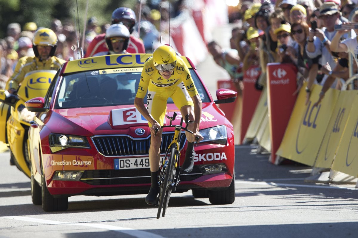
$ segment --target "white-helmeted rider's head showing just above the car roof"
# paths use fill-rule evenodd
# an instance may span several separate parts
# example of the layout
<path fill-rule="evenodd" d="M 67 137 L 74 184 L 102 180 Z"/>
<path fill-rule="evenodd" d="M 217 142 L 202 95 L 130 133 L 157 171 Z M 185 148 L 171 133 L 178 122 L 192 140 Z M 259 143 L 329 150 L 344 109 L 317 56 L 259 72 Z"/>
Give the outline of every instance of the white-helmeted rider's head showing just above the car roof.
<path fill-rule="evenodd" d="M 108 51 L 98 52 L 93 56 L 113 55 L 113 54 L 129 54 L 126 49 L 128 47 L 130 33 L 123 24 L 113 24 L 106 30 L 106 44 Z"/>

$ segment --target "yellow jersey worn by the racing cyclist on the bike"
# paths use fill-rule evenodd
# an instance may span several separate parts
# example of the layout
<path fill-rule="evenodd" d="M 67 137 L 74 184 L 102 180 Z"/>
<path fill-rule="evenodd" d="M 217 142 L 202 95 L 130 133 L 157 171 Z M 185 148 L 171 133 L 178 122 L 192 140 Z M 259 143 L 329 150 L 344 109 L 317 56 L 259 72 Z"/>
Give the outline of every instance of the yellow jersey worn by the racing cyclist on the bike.
<path fill-rule="evenodd" d="M 144 64 L 136 97 L 144 98 L 148 89 L 149 91 L 162 91 L 163 89 L 172 90 L 181 82 L 184 83 L 190 97 L 194 97 L 198 94 L 198 90 L 194 85 L 189 69 L 180 57 L 177 57 L 176 66 L 169 79 L 163 79 L 161 77 L 159 71 L 155 69 L 153 58 L 151 57 Z"/>

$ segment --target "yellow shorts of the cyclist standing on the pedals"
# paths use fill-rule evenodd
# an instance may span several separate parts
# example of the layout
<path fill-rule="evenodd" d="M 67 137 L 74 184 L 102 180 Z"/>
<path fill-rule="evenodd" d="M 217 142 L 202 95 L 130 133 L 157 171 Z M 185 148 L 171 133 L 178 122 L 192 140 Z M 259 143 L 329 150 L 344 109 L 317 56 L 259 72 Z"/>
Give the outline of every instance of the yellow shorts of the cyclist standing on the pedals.
<path fill-rule="evenodd" d="M 188 91 L 185 89 L 183 82 L 171 87 L 156 87 L 153 91 L 153 87 L 149 87 L 147 96 L 147 110 L 150 115 L 160 124 L 164 125 L 166 102 L 168 98 L 172 98 L 173 102 L 179 110 L 183 106 L 194 106 L 192 98 L 189 96 Z M 152 125 L 148 123 L 151 127 Z"/>

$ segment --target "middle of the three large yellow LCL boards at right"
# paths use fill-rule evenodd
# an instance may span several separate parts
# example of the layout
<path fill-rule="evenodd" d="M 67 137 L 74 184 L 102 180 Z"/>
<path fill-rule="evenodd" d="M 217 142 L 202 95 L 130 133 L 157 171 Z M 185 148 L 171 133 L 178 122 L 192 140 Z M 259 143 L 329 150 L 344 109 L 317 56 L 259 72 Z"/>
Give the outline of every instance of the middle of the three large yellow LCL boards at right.
<path fill-rule="evenodd" d="M 314 167 L 330 168 L 332 166 L 333 158 L 343 135 L 344 126 L 352 109 L 355 95 L 357 95 L 356 91 L 340 92 Z"/>

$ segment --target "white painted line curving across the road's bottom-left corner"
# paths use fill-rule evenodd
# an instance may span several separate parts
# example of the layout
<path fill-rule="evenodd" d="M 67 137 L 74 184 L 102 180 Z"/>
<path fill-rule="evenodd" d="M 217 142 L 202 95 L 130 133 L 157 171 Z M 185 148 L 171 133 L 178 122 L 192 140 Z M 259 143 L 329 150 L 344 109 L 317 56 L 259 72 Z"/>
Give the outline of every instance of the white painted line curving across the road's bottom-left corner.
<path fill-rule="evenodd" d="M 130 236 L 138 237 L 138 238 L 165 238 L 163 236 L 153 234 L 150 232 L 140 231 L 140 230 L 127 228 L 127 227 L 117 227 L 117 226 L 103 225 L 103 224 L 59 222 L 59 221 L 44 220 L 44 219 L 38 219 L 38 218 L 32 218 L 32 217 L 18 217 L 18 216 L 8 216 L 8 217 L 0 217 L 0 218 L 13 219 L 13 220 L 19 220 L 19 221 L 25 221 L 25 222 L 35 222 L 35 223 L 41 223 L 41 224 L 50 224 L 50 225 L 64 224 L 64 225 L 71 225 L 71 226 L 84 226 L 84 227 L 105 229 L 105 230 L 125 233 Z"/>

